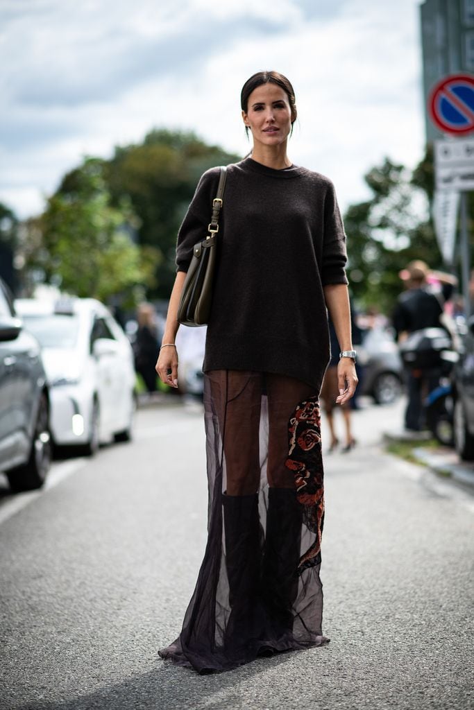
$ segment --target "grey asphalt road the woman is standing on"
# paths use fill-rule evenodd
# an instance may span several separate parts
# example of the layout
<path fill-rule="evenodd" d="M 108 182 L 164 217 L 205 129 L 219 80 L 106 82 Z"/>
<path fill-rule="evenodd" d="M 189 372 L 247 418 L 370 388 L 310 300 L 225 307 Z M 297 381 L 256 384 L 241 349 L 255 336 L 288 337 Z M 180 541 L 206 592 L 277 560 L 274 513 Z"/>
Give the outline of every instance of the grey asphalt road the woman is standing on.
<path fill-rule="evenodd" d="M 205 546 L 200 408 L 139 410 L 136 439 L 0 491 L 1 710 L 468 709 L 474 500 L 379 447 L 355 413 L 325 457 L 324 648 L 200 677 L 158 660 Z"/>

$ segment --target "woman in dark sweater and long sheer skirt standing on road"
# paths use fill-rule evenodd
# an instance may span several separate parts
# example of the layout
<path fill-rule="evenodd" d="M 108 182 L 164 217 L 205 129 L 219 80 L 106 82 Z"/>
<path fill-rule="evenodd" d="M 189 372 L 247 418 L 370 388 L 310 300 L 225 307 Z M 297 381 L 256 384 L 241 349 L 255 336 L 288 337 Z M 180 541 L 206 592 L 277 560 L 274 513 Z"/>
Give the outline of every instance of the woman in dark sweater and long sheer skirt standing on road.
<path fill-rule="evenodd" d="M 338 403 L 357 383 L 334 187 L 286 153 L 293 87 L 278 72 L 258 72 L 244 84 L 241 104 L 252 157 L 227 168 L 203 366 L 208 545 L 181 634 L 159 652 L 198 672 L 327 643 L 318 404 L 329 359 L 326 307 L 343 351 Z M 219 173 L 204 173 L 178 234 L 156 364 L 168 385 L 178 377 L 178 302 Z"/>

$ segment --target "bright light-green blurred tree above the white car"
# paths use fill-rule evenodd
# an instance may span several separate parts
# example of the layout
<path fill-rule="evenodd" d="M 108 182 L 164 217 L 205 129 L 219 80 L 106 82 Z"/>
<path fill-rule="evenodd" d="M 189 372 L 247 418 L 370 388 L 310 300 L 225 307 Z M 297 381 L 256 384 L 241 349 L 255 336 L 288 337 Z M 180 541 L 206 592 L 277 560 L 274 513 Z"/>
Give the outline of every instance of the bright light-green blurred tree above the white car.
<path fill-rule="evenodd" d="M 50 197 L 41 217 L 25 224 L 23 254 L 33 280 L 104 301 L 117 294 L 130 303 L 143 297 L 159 254 L 134 243 L 139 222 L 130 201 L 112 204 L 102 160 L 87 158 L 68 180 L 68 190 Z"/>

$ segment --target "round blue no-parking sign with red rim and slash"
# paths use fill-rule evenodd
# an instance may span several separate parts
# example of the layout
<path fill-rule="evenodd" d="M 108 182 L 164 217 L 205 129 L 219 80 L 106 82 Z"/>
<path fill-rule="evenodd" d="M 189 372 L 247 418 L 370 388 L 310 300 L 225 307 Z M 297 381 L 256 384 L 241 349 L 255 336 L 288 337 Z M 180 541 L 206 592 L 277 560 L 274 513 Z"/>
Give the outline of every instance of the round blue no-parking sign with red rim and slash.
<path fill-rule="evenodd" d="M 443 133 L 465 136 L 474 131 L 474 77 L 453 74 L 432 89 L 429 102 L 431 120 Z"/>

